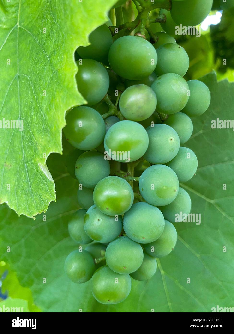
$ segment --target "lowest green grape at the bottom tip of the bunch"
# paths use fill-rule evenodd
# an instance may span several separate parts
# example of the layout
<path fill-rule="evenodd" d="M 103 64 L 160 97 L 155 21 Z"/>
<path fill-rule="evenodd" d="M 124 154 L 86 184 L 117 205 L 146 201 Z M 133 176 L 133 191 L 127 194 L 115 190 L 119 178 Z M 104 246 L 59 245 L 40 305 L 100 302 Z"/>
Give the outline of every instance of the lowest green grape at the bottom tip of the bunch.
<path fill-rule="evenodd" d="M 129 275 L 120 275 L 107 266 L 96 270 L 91 280 L 93 297 L 101 304 L 118 304 L 125 300 L 131 291 Z"/>

